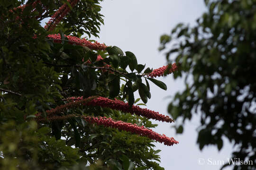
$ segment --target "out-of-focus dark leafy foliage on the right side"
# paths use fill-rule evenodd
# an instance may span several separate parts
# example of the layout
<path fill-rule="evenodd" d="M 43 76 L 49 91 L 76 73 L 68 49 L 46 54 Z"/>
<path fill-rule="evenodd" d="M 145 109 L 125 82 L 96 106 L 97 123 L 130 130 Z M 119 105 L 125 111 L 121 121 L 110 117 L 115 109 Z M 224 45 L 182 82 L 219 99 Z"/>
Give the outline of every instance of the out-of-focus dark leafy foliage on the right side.
<path fill-rule="evenodd" d="M 198 114 L 200 149 L 212 144 L 220 150 L 227 138 L 236 146 L 233 158 L 253 161 L 235 165 L 234 170 L 255 170 L 256 0 L 205 0 L 205 4 L 208 10 L 196 26 L 178 24 L 160 39 L 167 60 L 179 63 L 174 78 L 184 77 L 185 83 L 168 111 L 183 124 Z M 183 124 L 176 124 L 177 133 L 183 133 Z"/>

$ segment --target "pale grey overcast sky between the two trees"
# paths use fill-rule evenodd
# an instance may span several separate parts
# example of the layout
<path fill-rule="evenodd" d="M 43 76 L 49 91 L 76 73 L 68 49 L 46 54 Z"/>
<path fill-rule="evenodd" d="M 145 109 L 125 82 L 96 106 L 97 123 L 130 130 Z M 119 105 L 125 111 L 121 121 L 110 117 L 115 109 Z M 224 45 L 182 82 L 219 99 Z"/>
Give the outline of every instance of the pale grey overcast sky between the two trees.
<path fill-rule="evenodd" d="M 169 34 L 180 22 L 194 25 L 195 20 L 206 11 L 203 0 L 105 0 L 101 6 L 105 25 L 101 26 L 100 38 L 96 40 L 105 42 L 106 45 L 116 45 L 123 51 L 132 51 L 139 64 L 146 64 L 151 68 L 166 64 L 165 55 L 157 50 L 159 37 Z M 174 80 L 173 75 L 159 80 L 164 81 L 168 89 L 164 91 L 151 84 L 152 98 L 148 101 L 147 108 L 167 115 L 170 99 L 166 97 L 183 90 L 184 85 L 181 79 Z M 182 135 L 176 135 L 172 125 L 168 123 L 155 123 L 159 124 L 154 129 L 156 132 L 173 136 L 180 142 L 174 146 L 156 144 L 156 149 L 162 150 L 159 153 L 160 165 L 165 170 L 218 170 L 221 165 L 209 165 L 210 161 L 226 162 L 231 157 L 232 145 L 227 140 L 224 140 L 224 147 L 220 152 L 213 146 L 199 150 L 196 144 L 199 119 L 196 117 L 186 122 Z M 198 160 L 204 165 L 200 165 Z"/>

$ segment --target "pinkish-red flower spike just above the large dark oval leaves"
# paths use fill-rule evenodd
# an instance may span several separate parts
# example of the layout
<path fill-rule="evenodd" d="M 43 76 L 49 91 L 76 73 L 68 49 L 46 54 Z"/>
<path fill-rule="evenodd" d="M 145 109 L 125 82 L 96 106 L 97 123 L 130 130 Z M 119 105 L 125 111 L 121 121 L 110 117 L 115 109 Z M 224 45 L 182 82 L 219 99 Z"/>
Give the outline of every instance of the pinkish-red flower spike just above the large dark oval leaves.
<path fill-rule="evenodd" d="M 49 34 L 46 37 L 50 39 L 59 39 L 59 40 L 54 40 L 54 42 L 61 43 L 60 34 Z M 80 39 L 78 37 L 71 36 L 71 35 L 65 35 L 65 37 L 67 37 L 67 39 L 70 41 L 69 43 L 71 44 L 85 46 L 92 50 L 105 50 L 107 48 L 105 44 L 101 44 L 97 41 L 93 43 L 93 42 L 87 41 L 85 38 Z"/>

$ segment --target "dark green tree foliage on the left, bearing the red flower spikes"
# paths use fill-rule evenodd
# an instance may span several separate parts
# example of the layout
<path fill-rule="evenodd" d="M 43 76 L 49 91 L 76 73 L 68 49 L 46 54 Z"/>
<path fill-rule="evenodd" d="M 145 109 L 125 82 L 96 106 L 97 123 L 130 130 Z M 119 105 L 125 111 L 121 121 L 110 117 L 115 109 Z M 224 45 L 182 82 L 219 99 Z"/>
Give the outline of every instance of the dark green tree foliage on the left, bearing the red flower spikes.
<path fill-rule="evenodd" d="M 10 11 L 25 0 L 0 0 L 1 170 L 163 170 L 157 163 L 160 150 L 146 137 L 91 125 L 81 118 L 44 123 L 33 120 L 38 112 L 46 117 L 46 110 L 64 104 L 62 99 L 71 96 L 99 95 L 130 105 L 140 100 L 134 98 L 137 90 L 143 102 L 151 97 L 146 74 L 152 69 L 143 71 L 145 65 L 138 64 L 132 52 L 124 53 L 116 46 L 90 50 L 65 38 L 64 34 L 97 36 L 103 23 L 100 1 L 80 0 L 49 32 L 40 21 L 66 0 L 41 0 L 47 10 L 40 17 L 35 17 L 38 12 L 31 12 L 29 5 L 23 11 Z M 34 0 L 26 1 L 31 2 Z M 42 7 L 37 5 L 36 9 Z M 46 38 L 55 33 L 61 34 L 61 43 Z M 96 60 L 98 55 L 103 59 Z M 111 69 L 102 69 L 107 64 Z M 166 90 L 163 82 L 149 80 Z M 71 113 L 157 126 L 143 117 L 101 107 L 81 106 L 62 114 Z"/>

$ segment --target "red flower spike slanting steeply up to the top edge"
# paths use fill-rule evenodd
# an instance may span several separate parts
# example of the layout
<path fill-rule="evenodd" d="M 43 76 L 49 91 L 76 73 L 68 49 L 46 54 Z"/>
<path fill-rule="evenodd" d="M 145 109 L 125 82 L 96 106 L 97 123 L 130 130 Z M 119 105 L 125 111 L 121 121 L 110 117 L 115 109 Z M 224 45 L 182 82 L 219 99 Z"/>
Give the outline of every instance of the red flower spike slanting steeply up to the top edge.
<path fill-rule="evenodd" d="M 71 7 L 73 8 L 78 0 L 68 0 Z M 49 29 L 50 31 L 54 30 L 55 26 L 70 12 L 70 8 L 65 3 L 62 5 L 51 17 L 51 19 L 46 23 L 45 29 Z"/>

